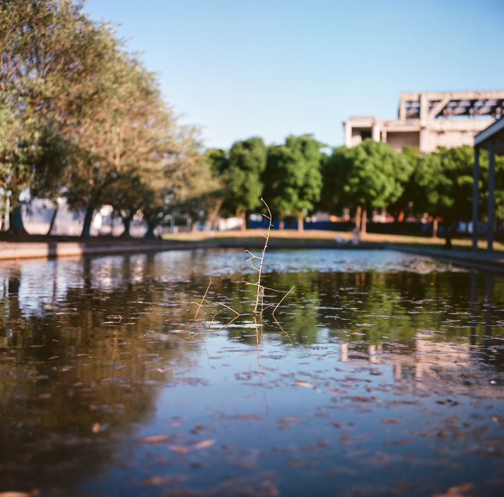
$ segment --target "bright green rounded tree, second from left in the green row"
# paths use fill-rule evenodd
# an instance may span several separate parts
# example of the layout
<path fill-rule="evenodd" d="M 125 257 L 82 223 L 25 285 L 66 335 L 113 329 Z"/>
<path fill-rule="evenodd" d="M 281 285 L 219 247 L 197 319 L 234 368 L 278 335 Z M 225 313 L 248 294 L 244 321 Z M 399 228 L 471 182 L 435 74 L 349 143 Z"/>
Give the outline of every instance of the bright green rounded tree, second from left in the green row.
<path fill-rule="evenodd" d="M 304 216 L 320 200 L 323 146 L 312 135 L 291 135 L 284 145 L 270 147 L 263 196 L 279 215 L 281 228 L 285 216 L 294 215 L 302 231 Z"/>

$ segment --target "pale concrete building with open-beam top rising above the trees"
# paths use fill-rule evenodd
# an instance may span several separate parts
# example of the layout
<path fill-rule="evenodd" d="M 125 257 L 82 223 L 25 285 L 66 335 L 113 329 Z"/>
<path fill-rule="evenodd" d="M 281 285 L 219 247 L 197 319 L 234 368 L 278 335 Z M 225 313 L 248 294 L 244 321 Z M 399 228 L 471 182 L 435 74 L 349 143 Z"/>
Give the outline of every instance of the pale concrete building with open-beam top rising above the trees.
<path fill-rule="evenodd" d="M 344 124 L 345 145 L 365 138 L 432 152 L 474 145 L 474 137 L 504 113 L 504 90 L 401 93 L 397 120 L 351 117 Z"/>

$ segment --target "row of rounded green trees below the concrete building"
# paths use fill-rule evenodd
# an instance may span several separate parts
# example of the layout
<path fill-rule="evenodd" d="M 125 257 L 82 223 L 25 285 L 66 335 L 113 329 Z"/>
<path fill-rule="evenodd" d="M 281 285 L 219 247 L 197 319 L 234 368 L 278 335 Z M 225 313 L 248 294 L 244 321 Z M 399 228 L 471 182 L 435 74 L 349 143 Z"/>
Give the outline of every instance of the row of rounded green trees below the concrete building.
<path fill-rule="evenodd" d="M 341 215 L 350 209 L 362 233 L 368 213 L 384 210 L 395 222 L 427 217 L 434 226 L 472 220 L 474 151 L 470 146 L 439 147 L 421 154 L 402 152 L 387 143 L 365 139 L 331 153 L 312 135 L 289 136 L 283 145 L 266 147 L 260 138 L 236 142 L 228 152 L 210 149 L 205 160 L 221 184 L 221 209 L 236 215 L 260 208 L 265 198 L 273 215 L 302 219 L 324 211 Z M 496 157 L 495 218 L 504 219 L 504 157 Z M 485 221 L 488 157 L 482 151 L 480 220 Z"/>

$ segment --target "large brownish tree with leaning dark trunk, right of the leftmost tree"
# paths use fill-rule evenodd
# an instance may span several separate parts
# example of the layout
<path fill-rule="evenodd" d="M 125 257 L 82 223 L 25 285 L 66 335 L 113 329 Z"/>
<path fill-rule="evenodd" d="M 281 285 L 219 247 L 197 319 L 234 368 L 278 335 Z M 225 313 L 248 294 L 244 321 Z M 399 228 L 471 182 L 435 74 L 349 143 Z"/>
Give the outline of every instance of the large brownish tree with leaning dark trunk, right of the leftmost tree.
<path fill-rule="evenodd" d="M 98 46 L 103 50 L 99 97 L 83 111 L 65 193 L 72 208 L 85 211 L 83 236 L 89 235 L 94 211 L 117 198 L 114 185 L 142 168 L 149 174 L 173 141 L 173 119 L 154 74 L 125 53 L 109 31 L 101 33 Z"/>

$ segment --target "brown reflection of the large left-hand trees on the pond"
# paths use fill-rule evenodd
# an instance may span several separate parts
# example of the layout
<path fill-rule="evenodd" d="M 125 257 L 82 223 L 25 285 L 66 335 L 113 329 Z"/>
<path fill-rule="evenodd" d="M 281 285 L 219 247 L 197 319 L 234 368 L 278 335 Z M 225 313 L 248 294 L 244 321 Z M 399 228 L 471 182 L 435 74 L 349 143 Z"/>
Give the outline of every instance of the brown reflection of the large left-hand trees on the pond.
<path fill-rule="evenodd" d="M 88 478 L 154 415 L 162 386 L 191 367 L 191 351 L 200 344 L 168 333 L 166 314 L 153 304 L 166 288 L 147 278 L 153 266 L 144 260 L 125 257 L 118 267 L 84 259 L 66 295 L 37 312 L 23 308 L 24 282 L 6 275 L 0 491 L 19 488 L 20 481 L 30 490 Z M 176 292 L 172 299 L 179 299 Z"/>

